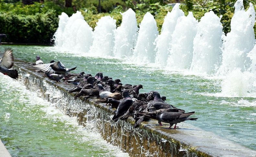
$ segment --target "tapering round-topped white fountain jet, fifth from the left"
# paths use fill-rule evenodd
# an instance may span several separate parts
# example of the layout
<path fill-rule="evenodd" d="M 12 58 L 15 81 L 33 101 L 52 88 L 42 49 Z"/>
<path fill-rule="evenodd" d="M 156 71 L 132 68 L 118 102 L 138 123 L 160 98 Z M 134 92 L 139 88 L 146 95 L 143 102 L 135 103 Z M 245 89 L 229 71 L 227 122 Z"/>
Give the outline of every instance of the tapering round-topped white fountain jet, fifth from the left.
<path fill-rule="evenodd" d="M 146 13 L 140 24 L 138 40 L 132 57 L 135 62 L 139 64 L 155 62 L 156 46 L 154 41 L 157 35 L 156 20 L 150 13 Z"/>

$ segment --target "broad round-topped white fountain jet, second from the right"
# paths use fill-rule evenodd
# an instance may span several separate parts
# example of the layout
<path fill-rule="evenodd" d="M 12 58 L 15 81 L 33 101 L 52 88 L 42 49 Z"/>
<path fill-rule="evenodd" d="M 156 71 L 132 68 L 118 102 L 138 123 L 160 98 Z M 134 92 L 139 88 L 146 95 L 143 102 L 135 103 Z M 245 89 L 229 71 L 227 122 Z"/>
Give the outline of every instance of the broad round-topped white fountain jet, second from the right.
<path fill-rule="evenodd" d="M 222 24 L 213 11 L 205 13 L 198 23 L 193 41 L 191 71 L 197 73 L 216 73 L 221 63 Z"/>

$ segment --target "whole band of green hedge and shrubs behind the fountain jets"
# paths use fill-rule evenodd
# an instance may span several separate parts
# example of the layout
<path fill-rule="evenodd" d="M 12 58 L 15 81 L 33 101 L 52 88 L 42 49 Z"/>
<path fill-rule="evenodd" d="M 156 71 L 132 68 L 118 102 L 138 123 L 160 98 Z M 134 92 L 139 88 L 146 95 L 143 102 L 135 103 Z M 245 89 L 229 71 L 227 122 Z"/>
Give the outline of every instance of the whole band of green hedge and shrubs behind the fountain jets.
<path fill-rule="evenodd" d="M 7 34 L 7 39 L 3 42 L 16 43 L 39 43 L 52 44 L 52 36 L 58 28 L 58 15 L 65 12 L 71 16 L 72 8 L 64 7 L 64 0 L 45 0 L 45 3 L 35 3 L 33 5 L 23 5 L 18 0 L 5 0 L 0 2 L 0 33 Z M 100 17 L 111 16 L 116 19 L 117 26 L 122 22 L 120 12 L 132 8 L 136 13 L 139 23 L 146 12 L 150 12 L 157 21 L 159 32 L 161 31 L 164 17 L 171 6 L 167 3 L 174 0 L 103 0 L 101 3 L 101 13 L 98 8 L 99 0 L 73 0 L 73 5 L 82 12 L 87 23 L 94 28 Z M 125 2 L 124 2 L 125 1 Z M 185 12 L 193 12 L 196 19 L 200 21 L 204 13 L 210 10 L 217 16 L 223 15 L 221 22 L 223 31 L 227 34 L 230 31 L 230 21 L 234 13 L 236 0 L 181 0 L 180 8 Z M 247 9 L 249 3 L 253 3 L 256 9 L 255 0 L 244 0 Z M 254 26 L 256 34 L 256 26 Z"/>

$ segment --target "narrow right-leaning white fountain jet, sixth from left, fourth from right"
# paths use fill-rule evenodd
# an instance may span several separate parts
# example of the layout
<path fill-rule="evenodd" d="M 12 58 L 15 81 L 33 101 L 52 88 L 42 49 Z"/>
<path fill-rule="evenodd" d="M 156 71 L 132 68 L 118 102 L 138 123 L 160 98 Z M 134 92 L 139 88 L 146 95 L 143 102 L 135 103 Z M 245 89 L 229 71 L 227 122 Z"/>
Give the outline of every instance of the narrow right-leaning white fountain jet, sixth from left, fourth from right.
<path fill-rule="evenodd" d="M 156 39 L 156 65 L 164 67 L 167 64 L 169 56 L 169 43 L 171 35 L 175 29 L 177 19 L 184 16 L 184 12 L 179 8 L 180 4 L 176 3 L 171 12 L 168 12 L 162 26 L 161 34 Z"/>

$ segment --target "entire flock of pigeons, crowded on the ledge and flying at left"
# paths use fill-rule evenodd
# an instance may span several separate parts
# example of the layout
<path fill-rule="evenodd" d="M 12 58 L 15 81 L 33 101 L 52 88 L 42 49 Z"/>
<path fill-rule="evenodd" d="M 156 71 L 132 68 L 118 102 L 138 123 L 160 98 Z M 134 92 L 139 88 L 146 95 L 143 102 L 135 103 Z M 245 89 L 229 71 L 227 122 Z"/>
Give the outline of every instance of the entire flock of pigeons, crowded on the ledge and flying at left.
<path fill-rule="evenodd" d="M 6 37 L 0 34 L 1 39 Z M 14 64 L 14 58 L 11 49 L 6 49 L 0 61 L 0 72 L 17 79 L 17 70 L 10 70 Z M 184 110 L 169 105 L 165 102 L 166 97 L 160 96 L 157 91 L 149 93 L 139 93 L 143 86 L 141 84 L 122 85 L 120 79 L 113 80 L 111 77 L 103 76 L 103 73 L 96 73 L 93 77 L 91 74 L 81 72 L 79 74 L 70 73 L 76 67 L 67 69 L 60 61 L 44 64 L 39 56 L 36 56 L 36 62 L 30 63 L 36 72 L 43 72 L 46 76 L 54 81 L 60 80 L 66 83 L 74 84 L 75 87 L 69 93 L 76 92 L 75 98 L 80 96 L 100 98 L 95 103 L 106 103 L 110 108 L 116 108 L 116 112 L 112 118 L 115 122 L 125 120 L 132 116 L 135 120 L 134 128 L 138 127 L 142 121 L 148 119 L 157 119 L 160 126 L 161 122 L 169 123 L 169 128 L 175 124 L 173 129 L 177 128 L 177 123 L 185 120 L 196 120 L 190 118 L 195 112 L 185 113 Z"/>

